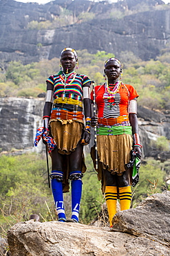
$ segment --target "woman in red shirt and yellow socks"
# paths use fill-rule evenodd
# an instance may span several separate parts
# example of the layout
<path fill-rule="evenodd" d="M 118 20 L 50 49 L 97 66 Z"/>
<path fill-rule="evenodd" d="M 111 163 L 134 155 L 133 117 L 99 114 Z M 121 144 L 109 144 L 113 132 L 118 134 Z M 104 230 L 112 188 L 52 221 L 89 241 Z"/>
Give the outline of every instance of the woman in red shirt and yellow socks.
<path fill-rule="evenodd" d="M 119 80 L 122 68 L 118 59 L 107 60 L 104 73 L 107 82 L 95 86 L 98 116 L 92 117 L 92 127 L 97 125 L 97 172 L 102 181 L 111 226 L 118 198 L 120 210 L 130 208 L 131 174 L 125 170 L 125 164 L 129 163 L 132 148 L 141 156 L 142 146 L 138 134 L 138 93 L 133 86 Z M 91 98 L 93 100 L 93 95 Z"/>

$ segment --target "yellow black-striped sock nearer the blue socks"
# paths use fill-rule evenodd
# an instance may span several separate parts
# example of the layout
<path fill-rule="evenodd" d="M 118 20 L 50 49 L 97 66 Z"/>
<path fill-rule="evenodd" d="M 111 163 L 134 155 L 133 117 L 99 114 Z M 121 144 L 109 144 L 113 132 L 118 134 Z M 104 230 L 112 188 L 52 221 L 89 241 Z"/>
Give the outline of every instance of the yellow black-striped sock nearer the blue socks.
<path fill-rule="evenodd" d="M 117 187 L 106 186 L 105 187 L 105 199 L 107 203 L 107 210 L 109 213 L 109 223 L 112 226 L 112 219 L 116 214 L 116 202 L 117 202 Z"/>

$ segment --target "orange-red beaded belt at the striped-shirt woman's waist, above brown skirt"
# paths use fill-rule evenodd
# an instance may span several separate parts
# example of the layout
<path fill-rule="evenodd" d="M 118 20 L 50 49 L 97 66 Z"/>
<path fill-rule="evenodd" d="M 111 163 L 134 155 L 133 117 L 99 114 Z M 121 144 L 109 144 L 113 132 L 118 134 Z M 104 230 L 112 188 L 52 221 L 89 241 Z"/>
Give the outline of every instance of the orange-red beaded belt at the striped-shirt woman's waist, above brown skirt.
<path fill-rule="evenodd" d="M 52 109 L 50 116 L 51 119 L 63 119 L 63 120 L 83 120 L 84 116 L 82 111 L 67 111 L 63 109 Z"/>

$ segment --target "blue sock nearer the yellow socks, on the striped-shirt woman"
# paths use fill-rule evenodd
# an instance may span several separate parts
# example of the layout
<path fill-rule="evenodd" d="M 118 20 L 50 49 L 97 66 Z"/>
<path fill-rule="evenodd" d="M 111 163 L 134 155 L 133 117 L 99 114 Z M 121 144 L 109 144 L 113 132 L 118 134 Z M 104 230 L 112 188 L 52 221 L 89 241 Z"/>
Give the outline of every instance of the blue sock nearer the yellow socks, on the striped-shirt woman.
<path fill-rule="evenodd" d="M 81 192 L 82 192 L 81 178 L 73 180 L 72 181 L 72 219 L 76 219 L 76 221 L 78 221 L 78 214 L 80 210 Z"/>

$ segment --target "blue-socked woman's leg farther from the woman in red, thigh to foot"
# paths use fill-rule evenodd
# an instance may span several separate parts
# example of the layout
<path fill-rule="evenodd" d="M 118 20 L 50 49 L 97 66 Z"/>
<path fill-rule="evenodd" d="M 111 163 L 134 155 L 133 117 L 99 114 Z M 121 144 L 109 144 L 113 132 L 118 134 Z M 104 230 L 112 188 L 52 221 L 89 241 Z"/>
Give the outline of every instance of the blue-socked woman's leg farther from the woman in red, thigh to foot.
<path fill-rule="evenodd" d="M 63 202 L 63 161 L 64 155 L 59 154 L 57 149 L 52 151 L 52 194 L 56 205 L 59 221 L 65 221 L 65 209 Z"/>

